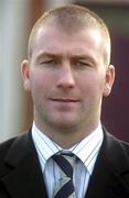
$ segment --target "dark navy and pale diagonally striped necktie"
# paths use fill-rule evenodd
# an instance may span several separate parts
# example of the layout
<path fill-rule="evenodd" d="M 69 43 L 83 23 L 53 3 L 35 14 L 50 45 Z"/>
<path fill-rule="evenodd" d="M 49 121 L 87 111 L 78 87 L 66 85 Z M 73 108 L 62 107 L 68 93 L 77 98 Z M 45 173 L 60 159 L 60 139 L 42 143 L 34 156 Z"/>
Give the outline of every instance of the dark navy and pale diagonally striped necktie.
<path fill-rule="evenodd" d="M 54 155 L 53 160 L 61 168 L 62 176 L 55 186 L 54 198 L 75 198 L 75 189 L 73 185 L 73 166 L 76 156 L 74 154 Z"/>

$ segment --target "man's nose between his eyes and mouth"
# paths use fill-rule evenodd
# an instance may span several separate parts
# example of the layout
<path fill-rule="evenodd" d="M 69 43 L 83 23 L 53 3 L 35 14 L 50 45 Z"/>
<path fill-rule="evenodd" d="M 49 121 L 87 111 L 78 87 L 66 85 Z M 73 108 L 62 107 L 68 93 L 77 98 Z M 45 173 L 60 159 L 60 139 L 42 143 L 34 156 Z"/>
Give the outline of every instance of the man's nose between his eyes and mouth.
<path fill-rule="evenodd" d="M 61 68 L 57 87 L 74 88 L 74 86 L 75 86 L 74 70 L 72 70 L 71 65 L 66 64 Z"/>

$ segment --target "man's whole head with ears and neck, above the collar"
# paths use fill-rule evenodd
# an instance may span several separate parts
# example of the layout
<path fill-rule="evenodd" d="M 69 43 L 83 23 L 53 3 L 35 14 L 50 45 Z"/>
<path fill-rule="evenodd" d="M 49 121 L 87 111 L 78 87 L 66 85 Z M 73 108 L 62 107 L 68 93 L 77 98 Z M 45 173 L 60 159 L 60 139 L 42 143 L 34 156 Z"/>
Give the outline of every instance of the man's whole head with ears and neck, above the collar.
<path fill-rule="evenodd" d="M 109 59 L 108 30 L 87 9 L 57 8 L 36 22 L 22 74 L 41 131 L 71 144 L 98 125 L 103 96 L 110 94 L 114 84 Z"/>

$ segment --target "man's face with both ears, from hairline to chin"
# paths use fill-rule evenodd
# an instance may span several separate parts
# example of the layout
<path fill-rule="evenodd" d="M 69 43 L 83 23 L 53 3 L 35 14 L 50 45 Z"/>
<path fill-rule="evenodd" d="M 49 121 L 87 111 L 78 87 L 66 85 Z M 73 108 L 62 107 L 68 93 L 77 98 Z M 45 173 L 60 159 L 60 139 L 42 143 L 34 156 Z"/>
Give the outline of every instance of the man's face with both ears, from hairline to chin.
<path fill-rule="evenodd" d="M 54 26 L 41 28 L 30 65 L 24 62 L 22 72 L 36 124 L 54 131 L 90 130 L 98 124 L 114 72 L 104 64 L 97 30 L 68 35 Z"/>

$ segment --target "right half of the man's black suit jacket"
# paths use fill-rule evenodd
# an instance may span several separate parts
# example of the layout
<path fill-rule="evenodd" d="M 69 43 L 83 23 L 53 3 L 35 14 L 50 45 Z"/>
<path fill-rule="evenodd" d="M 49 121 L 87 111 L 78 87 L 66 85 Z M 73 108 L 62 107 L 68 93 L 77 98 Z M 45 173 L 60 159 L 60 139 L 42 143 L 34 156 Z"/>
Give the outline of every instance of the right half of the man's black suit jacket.
<path fill-rule="evenodd" d="M 129 162 L 122 145 L 105 133 L 86 198 L 128 198 Z"/>

